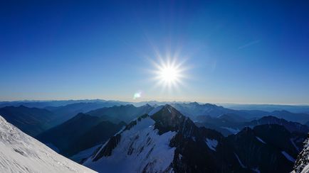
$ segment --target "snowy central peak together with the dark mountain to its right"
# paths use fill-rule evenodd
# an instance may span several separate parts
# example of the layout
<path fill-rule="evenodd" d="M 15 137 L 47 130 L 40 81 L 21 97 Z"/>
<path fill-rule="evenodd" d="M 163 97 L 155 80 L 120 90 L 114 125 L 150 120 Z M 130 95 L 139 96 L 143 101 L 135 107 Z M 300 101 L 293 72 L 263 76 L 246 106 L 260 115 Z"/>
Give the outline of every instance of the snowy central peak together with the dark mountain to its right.
<path fill-rule="evenodd" d="M 225 138 L 166 105 L 131 121 L 83 164 L 98 172 L 288 172 L 294 137 L 282 125 L 258 125 Z"/>

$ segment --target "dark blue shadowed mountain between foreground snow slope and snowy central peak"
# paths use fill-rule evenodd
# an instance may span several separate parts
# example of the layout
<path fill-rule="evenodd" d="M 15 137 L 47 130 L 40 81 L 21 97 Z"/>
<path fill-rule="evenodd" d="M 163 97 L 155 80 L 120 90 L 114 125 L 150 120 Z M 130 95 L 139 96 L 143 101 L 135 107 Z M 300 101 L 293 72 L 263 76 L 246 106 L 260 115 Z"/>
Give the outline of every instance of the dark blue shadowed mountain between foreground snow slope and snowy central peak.
<path fill-rule="evenodd" d="M 70 120 L 46 130 L 36 138 L 53 150 L 70 157 L 80 151 L 102 144 L 117 133 L 125 123 L 110 123 L 103 119 L 78 113 Z"/>

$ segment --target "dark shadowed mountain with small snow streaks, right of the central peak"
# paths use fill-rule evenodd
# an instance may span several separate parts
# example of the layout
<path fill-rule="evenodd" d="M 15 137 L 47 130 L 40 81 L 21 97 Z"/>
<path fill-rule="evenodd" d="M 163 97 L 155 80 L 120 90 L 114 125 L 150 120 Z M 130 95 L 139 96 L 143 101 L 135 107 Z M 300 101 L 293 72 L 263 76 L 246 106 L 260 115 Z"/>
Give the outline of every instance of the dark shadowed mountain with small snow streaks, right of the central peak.
<path fill-rule="evenodd" d="M 261 172 L 290 172 L 293 161 L 283 152 L 295 158 L 297 150 L 291 142 L 292 135 L 281 125 L 258 125 L 243 128 L 227 139 L 243 167 Z"/>

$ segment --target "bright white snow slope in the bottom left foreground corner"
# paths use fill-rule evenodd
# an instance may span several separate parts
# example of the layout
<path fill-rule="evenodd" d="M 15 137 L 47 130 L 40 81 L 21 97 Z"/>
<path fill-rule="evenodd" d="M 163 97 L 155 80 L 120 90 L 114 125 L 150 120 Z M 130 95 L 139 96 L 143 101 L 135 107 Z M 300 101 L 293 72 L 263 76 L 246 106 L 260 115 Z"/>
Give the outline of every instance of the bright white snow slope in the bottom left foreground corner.
<path fill-rule="evenodd" d="M 0 116 L 0 172 L 94 172 L 58 155 Z"/>

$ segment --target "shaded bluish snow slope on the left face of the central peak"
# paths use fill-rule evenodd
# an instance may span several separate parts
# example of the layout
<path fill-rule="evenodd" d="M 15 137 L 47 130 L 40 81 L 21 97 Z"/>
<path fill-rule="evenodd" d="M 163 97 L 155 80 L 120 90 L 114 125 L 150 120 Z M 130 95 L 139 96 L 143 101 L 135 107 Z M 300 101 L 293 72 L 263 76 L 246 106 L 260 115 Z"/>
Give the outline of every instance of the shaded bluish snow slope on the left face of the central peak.
<path fill-rule="evenodd" d="M 94 157 L 90 157 L 84 165 L 100 172 L 164 172 L 167 170 L 174 158 L 175 149 L 169 147 L 169 141 L 176 133 L 169 131 L 159 135 L 154 128 L 155 121 L 150 117 L 136 122 L 137 124 L 129 130 L 119 133 L 120 141 L 112 150 L 112 155 L 101 157 L 96 161 L 93 160 Z"/>

